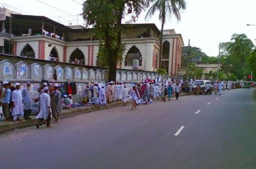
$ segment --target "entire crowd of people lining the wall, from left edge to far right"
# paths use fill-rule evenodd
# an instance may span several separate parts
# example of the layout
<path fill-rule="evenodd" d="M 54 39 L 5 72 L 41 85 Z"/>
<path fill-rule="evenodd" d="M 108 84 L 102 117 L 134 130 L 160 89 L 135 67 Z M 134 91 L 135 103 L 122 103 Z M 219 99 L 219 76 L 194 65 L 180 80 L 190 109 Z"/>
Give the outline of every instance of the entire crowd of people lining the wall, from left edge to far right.
<path fill-rule="evenodd" d="M 131 86 L 123 82 L 109 82 L 106 86 L 99 86 L 97 82 L 93 85 L 85 87 L 82 93 L 82 102 L 84 104 L 93 104 L 94 106 L 105 106 L 114 101 L 123 101 L 123 106 L 127 106 L 129 99 L 132 100 L 132 110 L 137 108 L 138 104 L 153 103 L 155 100 L 163 100 L 164 102 L 170 100 L 172 95 L 175 94 L 176 100 L 179 99 L 180 92 L 192 91 L 192 82 L 141 82 L 134 83 Z M 54 122 L 59 121 L 59 115 L 62 109 L 68 109 L 73 106 L 72 95 L 63 94 L 62 89 L 58 83 L 54 86 L 49 86 L 48 83 L 42 83 L 38 88 L 37 99 L 31 97 L 31 83 L 27 82 L 26 87 L 21 90 L 20 83 L 15 83 L 14 86 L 10 82 L 3 82 L 5 91 L 0 101 L 2 106 L 3 116 L 5 121 L 21 121 L 21 115 L 24 115 L 25 120 L 31 119 L 32 105 L 38 103 L 38 119 L 37 128 L 46 124 L 50 126 L 51 117 Z M 235 88 L 233 82 L 214 82 L 213 84 L 207 83 L 205 86 L 206 94 L 222 95 L 225 89 L 230 90 Z M 201 86 L 197 84 L 197 95 Z M 1 111 L 0 111 L 1 112 Z"/>

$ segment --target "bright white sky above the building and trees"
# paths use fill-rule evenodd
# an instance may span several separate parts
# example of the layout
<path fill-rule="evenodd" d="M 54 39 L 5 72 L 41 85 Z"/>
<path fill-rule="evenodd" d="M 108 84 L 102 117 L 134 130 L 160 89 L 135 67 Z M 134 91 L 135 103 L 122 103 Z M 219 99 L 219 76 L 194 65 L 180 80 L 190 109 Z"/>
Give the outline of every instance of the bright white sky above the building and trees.
<path fill-rule="evenodd" d="M 255 0 L 185 0 L 186 10 L 181 12 L 181 21 L 175 17 L 167 20 L 164 29 L 175 29 L 183 36 L 184 45 L 199 47 L 208 56 L 218 56 L 220 42 L 229 42 L 232 34 L 244 33 L 255 44 Z M 82 0 L 0 0 L 3 5 L 24 15 L 41 15 L 60 21 L 64 25 L 77 25 L 77 15 L 82 12 Z M 47 5 L 46 5 L 47 4 Z M 72 16 L 70 16 L 72 15 Z M 145 21 L 142 12 L 137 23 L 154 23 L 160 29 L 158 14 Z M 58 17 L 59 16 L 59 17 Z M 79 25 L 83 18 L 78 16 Z"/>

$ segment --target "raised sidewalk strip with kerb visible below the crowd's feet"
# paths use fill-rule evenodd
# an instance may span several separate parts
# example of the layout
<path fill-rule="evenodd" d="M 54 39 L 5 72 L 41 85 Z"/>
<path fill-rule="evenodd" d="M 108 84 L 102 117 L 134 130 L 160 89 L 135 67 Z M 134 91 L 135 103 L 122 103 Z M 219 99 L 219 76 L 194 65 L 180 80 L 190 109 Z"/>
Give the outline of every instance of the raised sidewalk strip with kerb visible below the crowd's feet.
<path fill-rule="evenodd" d="M 188 96 L 188 95 L 193 95 L 193 93 L 181 93 L 180 96 Z M 172 95 L 172 97 L 175 97 L 175 95 Z M 159 100 L 160 101 L 160 100 Z M 158 101 L 154 101 L 154 102 L 158 102 Z M 127 105 L 131 105 L 132 101 L 128 101 Z M 154 103 L 152 103 L 154 104 Z M 114 103 L 110 103 L 107 104 L 107 108 L 115 108 L 118 106 L 122 106 L 123 105 L 123 101 L 115 101 Z M 77 114 L 83 114 L 83 113 L 90 113 L 90 112 L 94 112 L 97 110 L 103 110 L 105 109 L 104 106 L 81 106 L 78 108 L 70 108 L 70 109 L 63 109 L 62 110 L 62 114 L 60 115 L 60 120 L 63 117 L 68 117 L 71 115 L 77 115 Z M 36 115 L 32 115 L 31 116 L 31 120 L 26 121 L 26 120 L 22 120 L 21 122 L 3 122 L 0 121 L 0 134 L 7 132 L 7 131 L 11 131 L 11 130 L 16 130 L 18 128 L 24 128 L 24 127 L 30 127 L 30 126 L 35 126 L 36 127 L 36 123 L 37 123 L 37 119 L 36 119 Z"/>

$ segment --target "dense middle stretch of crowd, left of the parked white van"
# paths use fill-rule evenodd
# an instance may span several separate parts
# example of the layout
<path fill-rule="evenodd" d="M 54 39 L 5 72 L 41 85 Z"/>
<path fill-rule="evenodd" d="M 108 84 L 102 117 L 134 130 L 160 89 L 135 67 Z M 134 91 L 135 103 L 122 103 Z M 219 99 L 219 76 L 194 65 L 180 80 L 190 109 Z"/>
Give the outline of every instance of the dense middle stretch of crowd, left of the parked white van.
<path fill-rule="evenodd" d="M 166 101 L 171 99 L 173 94 L 176 95 L 176 100 L 179 98 L 181 92 L 181 83 L 170 82 L 141 82 L 135 83 L 133 86 L 128 86 L 124 82 L 108 82 L 105 87 L 99 87 L 96 82 L 93 86 L 86 86 L 83 91 L 84 103 L 93 103 L 95 106 L 104 105 L 106 108 L 107 103 L 114 101 L 123 101 L 123 106 L 127 105 L 127 101 L 133 101 L 132 110 L 137 108 L 140 103 L 152 103 L 153 100 L 162 99 Z"/>

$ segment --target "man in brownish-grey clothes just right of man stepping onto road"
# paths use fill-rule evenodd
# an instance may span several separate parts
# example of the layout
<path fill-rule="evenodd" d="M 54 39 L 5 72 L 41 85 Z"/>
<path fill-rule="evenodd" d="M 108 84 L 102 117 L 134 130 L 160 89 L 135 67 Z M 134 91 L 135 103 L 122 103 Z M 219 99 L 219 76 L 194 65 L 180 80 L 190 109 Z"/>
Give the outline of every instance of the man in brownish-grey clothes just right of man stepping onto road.
<path fill-rule="evenodd" d="M 61 113 L 62 109 L 62 94 L 58 90 L 59 84 L 54 84 L 54 91 L 50 93 L 50 99 L 51 99 L 51 113 L 53 113 L 54 122 L 59 121 L 59 115 Z"/>

